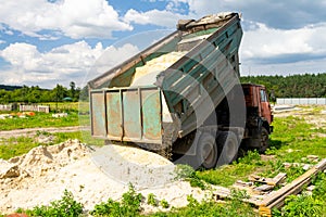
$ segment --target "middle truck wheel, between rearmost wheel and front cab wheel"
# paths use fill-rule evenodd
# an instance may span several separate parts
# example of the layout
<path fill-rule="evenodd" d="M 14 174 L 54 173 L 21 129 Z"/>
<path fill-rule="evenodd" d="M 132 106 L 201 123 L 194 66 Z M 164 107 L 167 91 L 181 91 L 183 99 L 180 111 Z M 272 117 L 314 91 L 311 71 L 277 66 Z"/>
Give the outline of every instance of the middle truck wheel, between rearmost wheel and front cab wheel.
<path fill-rule="evenodd" d="M 235 132 L 221 132 L 217 143 L 221 150 L 218 165 L 229 164 L 238 157 L 239 143 Z"/>

